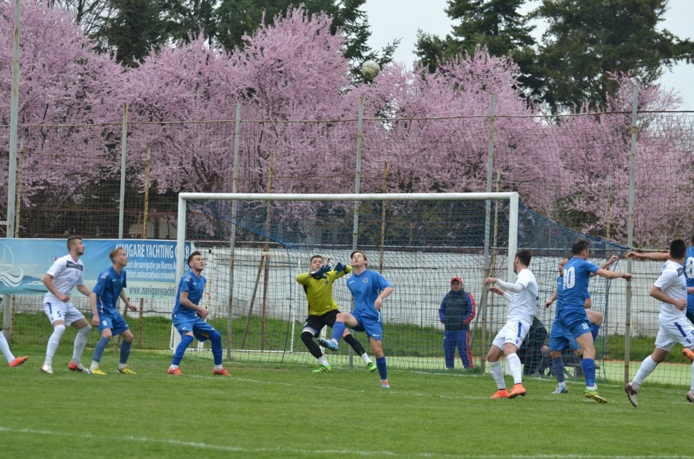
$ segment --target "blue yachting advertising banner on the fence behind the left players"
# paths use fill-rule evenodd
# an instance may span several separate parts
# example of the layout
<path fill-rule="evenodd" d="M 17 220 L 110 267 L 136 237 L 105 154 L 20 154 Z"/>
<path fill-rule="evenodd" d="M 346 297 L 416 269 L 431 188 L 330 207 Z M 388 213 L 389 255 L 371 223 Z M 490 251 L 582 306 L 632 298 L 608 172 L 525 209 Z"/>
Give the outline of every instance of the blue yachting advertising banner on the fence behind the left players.
<path fill-rule="evenodd" d="M 143 239 L 83 239 L 84 284 L 92 289 L 100 272 L 111 266 L 108 253 L 128 254 L 128 296 L 176 295 L 176 242 Z M 66 239 L 0 239 L 0 294 L 46 294 L 43 276 L 56 259 L 68 254 Z M 190 244 L 185 256 L 190 254 Z"/>

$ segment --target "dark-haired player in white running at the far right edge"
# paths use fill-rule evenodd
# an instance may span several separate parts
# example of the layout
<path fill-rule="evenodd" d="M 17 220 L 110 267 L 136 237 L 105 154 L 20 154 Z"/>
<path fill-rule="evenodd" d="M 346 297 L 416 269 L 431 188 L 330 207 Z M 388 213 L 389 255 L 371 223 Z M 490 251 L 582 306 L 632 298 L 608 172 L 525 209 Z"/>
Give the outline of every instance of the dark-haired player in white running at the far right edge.
<path fill-rule="evenodd" d="M 685 349 L 694 349 L 694 326 L 688 321 L 687 311 L 687 282 L 684 276 L 684 260 L 687 244 L 683 239 L 670 242 L 670 259 L 663 264 L 661 275 L 656 280 L 651 291 L 653 298 L 661 301 L 661 311 L 658 314 L 658 336 L 653 353 L 643 359 L 641 366 L 631 383 L 624 385 L 624 391 L 633 406 L 637 406 L 638 390 L 646 377 L 653 373 L 658 363 L 665 360 L 675 343 L 682 344 Z M 687 400 L 694 403 L 694 363 L 692 363 L 692 381 L 687 392 Z"/>

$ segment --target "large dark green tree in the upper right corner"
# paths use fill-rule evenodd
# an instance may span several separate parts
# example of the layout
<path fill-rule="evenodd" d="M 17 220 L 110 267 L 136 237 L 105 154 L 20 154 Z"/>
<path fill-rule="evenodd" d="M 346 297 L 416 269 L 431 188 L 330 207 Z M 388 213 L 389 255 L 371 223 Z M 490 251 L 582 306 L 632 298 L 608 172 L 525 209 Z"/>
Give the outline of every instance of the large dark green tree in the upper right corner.
<path fill-rule="evenodd" d="M 690 63 L 694 43 L 658 30 L 667 0 L 544 0 L 535 16 L 549 24 L 539 48 L 542 98 L 554 111 L 604 105 L 616 91 L 612 73 L 646 85 L 663 66 Z"/>

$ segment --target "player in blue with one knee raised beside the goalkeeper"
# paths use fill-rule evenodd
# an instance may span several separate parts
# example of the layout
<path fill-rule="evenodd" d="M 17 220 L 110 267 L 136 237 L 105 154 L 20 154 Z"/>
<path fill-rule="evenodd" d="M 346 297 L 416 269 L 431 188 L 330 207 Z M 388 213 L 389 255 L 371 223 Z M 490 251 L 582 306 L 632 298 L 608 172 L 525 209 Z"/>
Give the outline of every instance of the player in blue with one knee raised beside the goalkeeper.
<path fill-rule="evenodd" d="M 354 310 L 338 314 L 333 325 L 332 339 L 319 338 L 318 344 L 331 351 L 337 351 L 345 327 L 356 331 L 366 331 L 373 355 L 376 356 L 380 386 L 390 388 L 388 366 L 383 354 L 383 322 L 380 308 L 383 305 L 383 299 L 393 293 L 393 286 L 378 272 L 366 269 L 368 259 L 361 250 L 352 252 L 350 258 L 352 276 L 347 279 L 347 288 L 354 297 Z"/>

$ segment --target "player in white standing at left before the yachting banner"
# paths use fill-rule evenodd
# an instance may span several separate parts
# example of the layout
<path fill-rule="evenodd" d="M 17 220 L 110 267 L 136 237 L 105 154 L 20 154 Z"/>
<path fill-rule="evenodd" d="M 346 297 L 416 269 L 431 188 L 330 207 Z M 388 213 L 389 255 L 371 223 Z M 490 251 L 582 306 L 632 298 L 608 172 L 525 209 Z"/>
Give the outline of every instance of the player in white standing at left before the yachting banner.
<path fill-rule="evenodd" d="M 68 368 L 72 371 L 88 373 L 88 370 L 82 366 L 81 357 L 92 328 L 84 314 L 70 301 L 70 295 L 75 287 L 84 296 L 90 294 L 89 289 L 84 285 L 84 264 L 80 259 L 83 254 L 82 238 L 68 237 L 68 254 L 56 259 L 43 276 L 43 284 L 48 289 L 46 296 L 43 296 L 43 312 L 53 325 L 53 334 L 48 338 L 48 346 L 46 346 L 46 360 L 41 365 L 43 373 L 53 374 L 53 356 L 68 325 L 77 329 L 72 360 Z"/>

